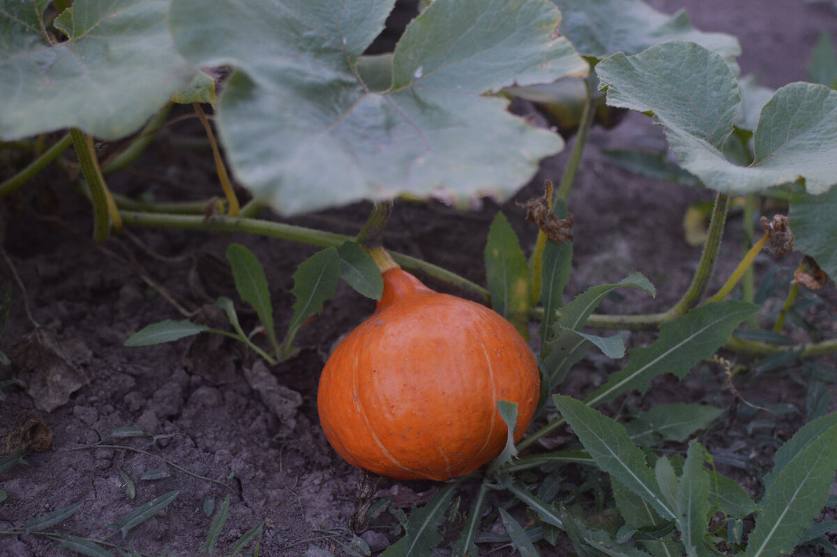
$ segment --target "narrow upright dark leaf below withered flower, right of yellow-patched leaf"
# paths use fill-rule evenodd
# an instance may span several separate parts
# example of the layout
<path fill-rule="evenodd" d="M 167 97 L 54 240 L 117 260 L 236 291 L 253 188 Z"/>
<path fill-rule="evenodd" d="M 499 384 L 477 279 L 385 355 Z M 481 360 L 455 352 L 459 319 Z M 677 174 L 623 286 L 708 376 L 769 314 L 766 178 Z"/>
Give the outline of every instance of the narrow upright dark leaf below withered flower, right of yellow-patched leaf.
<path fill-rule="evenodd" d="M 567 206 L 563 199 L 558 198 L 552 207 L 552 213 L 559 219 L 566 219 L 568 216 Z M 553 326 L 557 319 L 557 310 L 563 305 L 563 292 L 569 282 L 570 269 L 573 262 L 573 242 L 566 241 L 558 244 L 547 240 L 543 247 L 541 258 L 541 305 L 543 306 L 543 319 L 537 330 L 541 337 L 541 353 L 547 344 L 552 340 Z"/>

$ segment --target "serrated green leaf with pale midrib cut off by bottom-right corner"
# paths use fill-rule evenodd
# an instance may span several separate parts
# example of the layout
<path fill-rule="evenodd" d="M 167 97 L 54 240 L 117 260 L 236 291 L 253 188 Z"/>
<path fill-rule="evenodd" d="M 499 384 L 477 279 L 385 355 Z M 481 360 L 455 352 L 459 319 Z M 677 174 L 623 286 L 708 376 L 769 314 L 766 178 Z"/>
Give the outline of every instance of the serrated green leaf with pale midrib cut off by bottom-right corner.
<path fill-rule="evenodd" d="M 799 534 L 822 511 L 835 467 L 837 425 L 832 425 L 799 451 L 768 487 L 744 555 L 790 554 Z"/>

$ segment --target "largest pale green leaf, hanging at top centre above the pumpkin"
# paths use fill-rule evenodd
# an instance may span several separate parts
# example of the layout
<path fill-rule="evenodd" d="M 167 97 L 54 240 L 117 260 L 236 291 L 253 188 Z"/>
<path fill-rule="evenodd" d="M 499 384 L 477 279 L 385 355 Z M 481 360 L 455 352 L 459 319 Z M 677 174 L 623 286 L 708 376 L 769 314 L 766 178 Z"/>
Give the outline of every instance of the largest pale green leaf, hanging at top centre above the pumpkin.
<path fill-rule="evenodd" d="M 235 69 L 218 98 L 230 166 L 285 214 L 443 191 L 506 197 L 562 149 L 482 96 L 586 75 L 547 0 L 437 0 L 393 55 L 392 86 L 357 70 L 394 0 L 174 0 L 178 49 Z M 385 59 L 383 59 L 386 62 Z"/>

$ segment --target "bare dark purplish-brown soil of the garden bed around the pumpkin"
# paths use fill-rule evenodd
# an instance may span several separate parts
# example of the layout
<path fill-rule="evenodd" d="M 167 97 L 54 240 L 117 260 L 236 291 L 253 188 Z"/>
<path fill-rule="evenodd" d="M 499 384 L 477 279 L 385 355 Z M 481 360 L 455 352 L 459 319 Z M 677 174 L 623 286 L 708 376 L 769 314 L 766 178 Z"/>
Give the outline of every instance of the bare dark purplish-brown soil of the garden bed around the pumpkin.
<path fill-rule="evenodd" d="M 805 79 L 805 65 L 821 30 L 837 37 L 837 7 L 829 2 L 798 3 L 792 9 L 782 0 L 651 3 L 668 13 L 685 7 L 697 28 L 737 34 L 743 49 L 742 74 L 755 72 L 763 84 L 773 87 Z M 205 199 L 216 194 L 211 155 L 173 149 L 166 133 L 133 171 L 113 178 L 112 187 L 136 195 L 151 184 L 161 198 Z M 684 240 L 683 214 L 689 204 L 711 200 L 712 195 L 616 168 L 601 149 L 618 147 L 659 150 L 665 148 L 665 139 L 648 118 L 635 114 L 613 131 L 594 129 L 591 133 L 569 200 L 575 217 L 575 255 L 567 295 L 641 271 L 657 286 L 655 299 L 626 292 L 620 299 L 608 299 L 602 309 L 660 311 L 685 291 L 700 255 L 700 248 Z M 544 179 L 557 183 L 567 153 L 568 148 L 545 161 L 541 173 L 516 200 L 537 197 Z M 177 184 L 192 185 L 172 193 Z M 525 210 L 513 201 L 502 209 L 528 249 L 537 230 L 526 223 Z M 367 204 L 358 204 L 295 222 L 354 234 L 368 210 Z M 384 241 L 391 249 L 484 281 L 482 250 L 497 210 L 490 200 L 465 214 L 439 203 L 399 203 Z M 240 345 L 222 338 L 146 348 L 122 346 L 132 331 L 148 323 L 183 318 L 176 305 L 193 311 L 218 295 L 238 300 L 223 259 L 232 241 L 248 245 L 262 260 L 274 297 L 277 328 L 284 330 L 283 323 L 291 314 L 292 299 L 287 294 L 291 273 L 313 248 L 243 235 L 218 237 L 172 230 L 131 230 L 131 235 L 95 245 L 90 240 L 89 207 L 68 192 L 61 173 L 52 171 L 33 180 L 22 195 L 7 199 L 3 220 L 3 246 L 26 287 L 25 299 L 38 327 L 28 319 L 24 295 L 14 286 L 12 312 L 0 348 L 16 359 L 33 395 L 19 386 L 4 389 L 0 430 L 4 435 L 17 432 L 13 438 L 18 443 L 28 439 L 44 450 L 29 454 L 27 465 L 0 474 L 0 489 L 8 493 L 8 499 L 0 503 L 0 532 L 81 503 L 74 516 L 54 530 L 133 544 L 144 554 L 170 549 L 171 554 L 196 555 L 212 522 L 204 513 L 205 501 L 214 498 L 217 509 L 229 496 L 229 520 L 218 539 L 218 553 L 264 522 L 259 535 L 261 554 L 299 555 L 309 544 L 340 554 L 339 541 L 347 538 L 329 536 L 346 532 L 350 522 L 362 527 L 362 521 L 352 518 L 358 508 L 367 508 L 383 495 L 409 508 L 426 501 L 438 488 L 433 482 L 367 477 L 341 462 L 326 444 L 316 415 L 318 376 L 336 340 L 374 307 L 347 286 L 341 286 L 322 315 L 300 332 L 296 341 L 300 352 L 270 369 Z M 740 257 L 740 228 L 740 217 L 731 219 L 711 289 L 720 286 Z M 798 255 L 788 256 L 782 264 L 788 273 L 793 271 Z M 774 265 L 771 256 L 760 255 L 757 276 Z M 6 280 L 12 281 L 10 267 L 0 263 L 0 268 Z M 451 291 L 437 282 L 427 283 Z M 834 329 L 837 296 L 833 284 L 823 296 L 828 303 L 819 309 L 818 318 Z M 201 318 L 212 322 L 217 316 L 206 310 Z M 246 325 L 254 324 L 253 315 L 242 318 Z M 837 335 L 837 330 L 832 333 Z M 647 334 L 634 333 L 628 344 L 639 346 L 649 339 Z M 834 366 L 835 358 L 824 362 Z M 614 363 L 593 356 L 573 370 L 567 394 L 580 395 L 613 369 Z M 51 377 L 61 376 L 64 384 L 44 381 L 35 390 L 38 374 L 50 371 Z M 0 374 L 8 376 L 12 371 L 3 369 Z M 749 414 L 755 410 L 743 403 L 733 407 L 720 370 L 711 367 L 693 372 L 682 383 L 661 378 L 649 395 L 630 395 L 628 405 L 702 401 L 730 409 L 723 424 L 702 441 L 716 454 L 724 472 L 757 493 L 759 467 L 770 465 L 775 449 L 765 439 L 787 439 L 804 421 L 807 386 L 793 379 L 781 373 L 737 379 L 742 396 L 753 403 L 798 409 L 769 420 L 768 415 L 756 415 L 764 420 L 763 425 L 749 429 Z M 68 385 L 77 389 L 68 394 L 62 390 L 69 389 Z M 619 411 L 619 407 L 611 410 Z M 28 420 L 15 427 L 24 412 L 31 413 L 26 415 Z M 44 422 L 49 431 L 44 431 Z M 129 426 L 151 436 L 110 436 L 117 428 Z M 47 434 L 52 436 L 51 445 L 45 441 Z M 550 441 L 557 444 L 570 439 L 562 432 Z M 745 460 L 754 466 L 734 467 Z M 135 484 L 134 498 L 126 493 L 123 474 Z M 142 479 L 144 474 L 148 479 Z M 131 529 L 125 539 L 109 528 L 142 503 L 175 491 L 173 503 Z M 467 485 L 462 493 L 466 504 Z M 484 523 L 483 529 L 493 526 Z M 386 527 L 358 531 L 374 554 L 394 539 Z M 543 554 L 566 554 L 567 550 L 559 544 Z M 0 536 L 0 554 L 70 553 L 55 549 L 49 539 L 29 535 Z M 492 554 L 510 554 L 510 550 Z M 806 548 L 798 554 L 818 553 Z"/>

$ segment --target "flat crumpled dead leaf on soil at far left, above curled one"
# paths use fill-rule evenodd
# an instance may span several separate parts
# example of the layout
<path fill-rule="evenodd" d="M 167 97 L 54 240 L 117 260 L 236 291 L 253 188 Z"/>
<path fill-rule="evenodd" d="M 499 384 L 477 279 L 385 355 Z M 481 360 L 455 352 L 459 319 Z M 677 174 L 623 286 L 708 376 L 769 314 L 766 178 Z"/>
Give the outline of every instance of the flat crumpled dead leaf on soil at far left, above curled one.
<path fill-rule="evenodd" d="M 42 412 L 67 404 L 69 395 L 89 382 L 64 351 L 58 335 L 44 327 L 15 344 L 9 356 L 15 383 L 26 389 Z"/>

